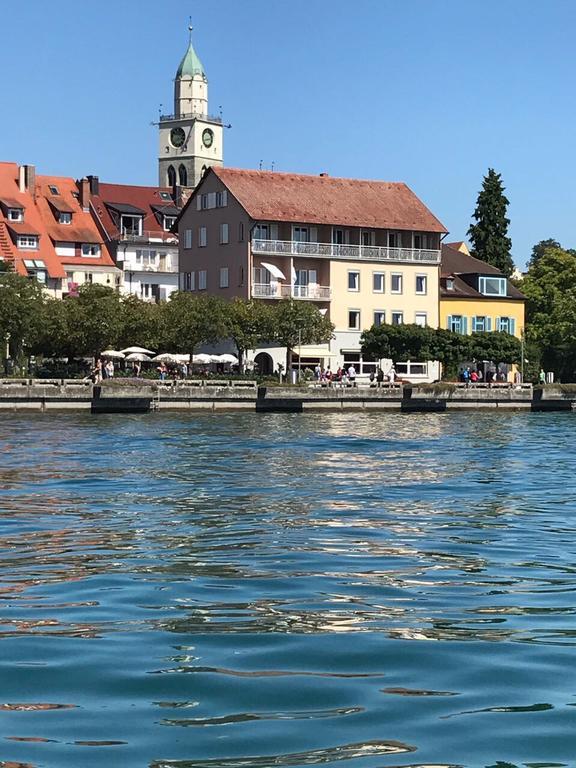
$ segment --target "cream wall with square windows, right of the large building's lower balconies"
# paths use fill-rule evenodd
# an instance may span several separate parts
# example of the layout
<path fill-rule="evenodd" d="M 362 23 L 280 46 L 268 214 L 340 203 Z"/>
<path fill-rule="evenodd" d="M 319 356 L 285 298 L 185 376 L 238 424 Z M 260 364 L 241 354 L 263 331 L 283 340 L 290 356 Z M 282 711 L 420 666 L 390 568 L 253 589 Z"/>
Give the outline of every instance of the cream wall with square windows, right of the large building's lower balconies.
<path fill-rule="evenodd" d="M 350 288 L 351 282 L 356 281 L 355 277 L 350 278 L 350 273 L 358 276 L 357 290 Z M 438 266 L 332 260 L 330 287 L 330 319 L 337 331 L 351 330 L 351 311 L 360 312 L 359 330 L 370 328 L 375 322 L 375 313 L 382 312 L 386 323 L 393 322 L 393 313 L 401 313 L 405 324 L 438 326 Z"/>

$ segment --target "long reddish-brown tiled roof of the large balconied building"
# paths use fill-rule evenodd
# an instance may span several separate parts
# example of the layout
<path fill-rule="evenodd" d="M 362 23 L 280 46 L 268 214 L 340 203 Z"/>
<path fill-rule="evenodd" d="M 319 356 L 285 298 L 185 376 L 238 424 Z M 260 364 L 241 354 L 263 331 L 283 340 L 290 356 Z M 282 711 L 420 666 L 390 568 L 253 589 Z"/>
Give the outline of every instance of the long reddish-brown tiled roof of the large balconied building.
<path fill-rule="evenodd" d="M 237 168 L 209 172 L 256 220 L 447 232 L 403 183 Z"/>

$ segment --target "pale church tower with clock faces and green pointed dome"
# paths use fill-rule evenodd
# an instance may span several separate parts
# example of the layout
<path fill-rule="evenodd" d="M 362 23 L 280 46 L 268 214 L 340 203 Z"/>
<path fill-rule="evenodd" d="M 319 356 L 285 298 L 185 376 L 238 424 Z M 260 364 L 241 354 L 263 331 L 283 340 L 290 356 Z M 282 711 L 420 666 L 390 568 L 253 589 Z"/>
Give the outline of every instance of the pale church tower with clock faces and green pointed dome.
<path fill-rule="evenodd" d="M 222 119 L 208 115 L 208 78 L 192 45 L 174 80 L 174 114 L 161 115 L 158 176 L 161 187 L 194 188 L 206 168 L 222 165 Z"/>

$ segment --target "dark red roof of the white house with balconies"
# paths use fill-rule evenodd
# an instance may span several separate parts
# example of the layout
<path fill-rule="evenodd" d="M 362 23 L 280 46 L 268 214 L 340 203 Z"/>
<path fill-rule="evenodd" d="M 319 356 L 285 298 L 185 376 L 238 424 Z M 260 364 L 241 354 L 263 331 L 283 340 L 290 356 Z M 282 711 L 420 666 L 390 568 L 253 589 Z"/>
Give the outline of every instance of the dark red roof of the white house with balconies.
<path fill-rule="evenodd" d="M 163 200 L 160 193 L 170 195 L 168 200 Z M 168 187 L 141 187 L 134 184 L 105 184 L 99 183 L 97 195 L 92 196 L 92 205 L 101 225 L 110 240 L 120 238 L 120 231 L 116 225 L 108 206 L 114 204 L 130 206 L 144 212 L 142 229 L 144 232 L 152 232 L 155 235 L 173 239 L 174 235 L 164 230 L 164 224 L 158 220 L 156 211 L 166 208 L 167 215 L 173 215 L 174 199 Z"/>

